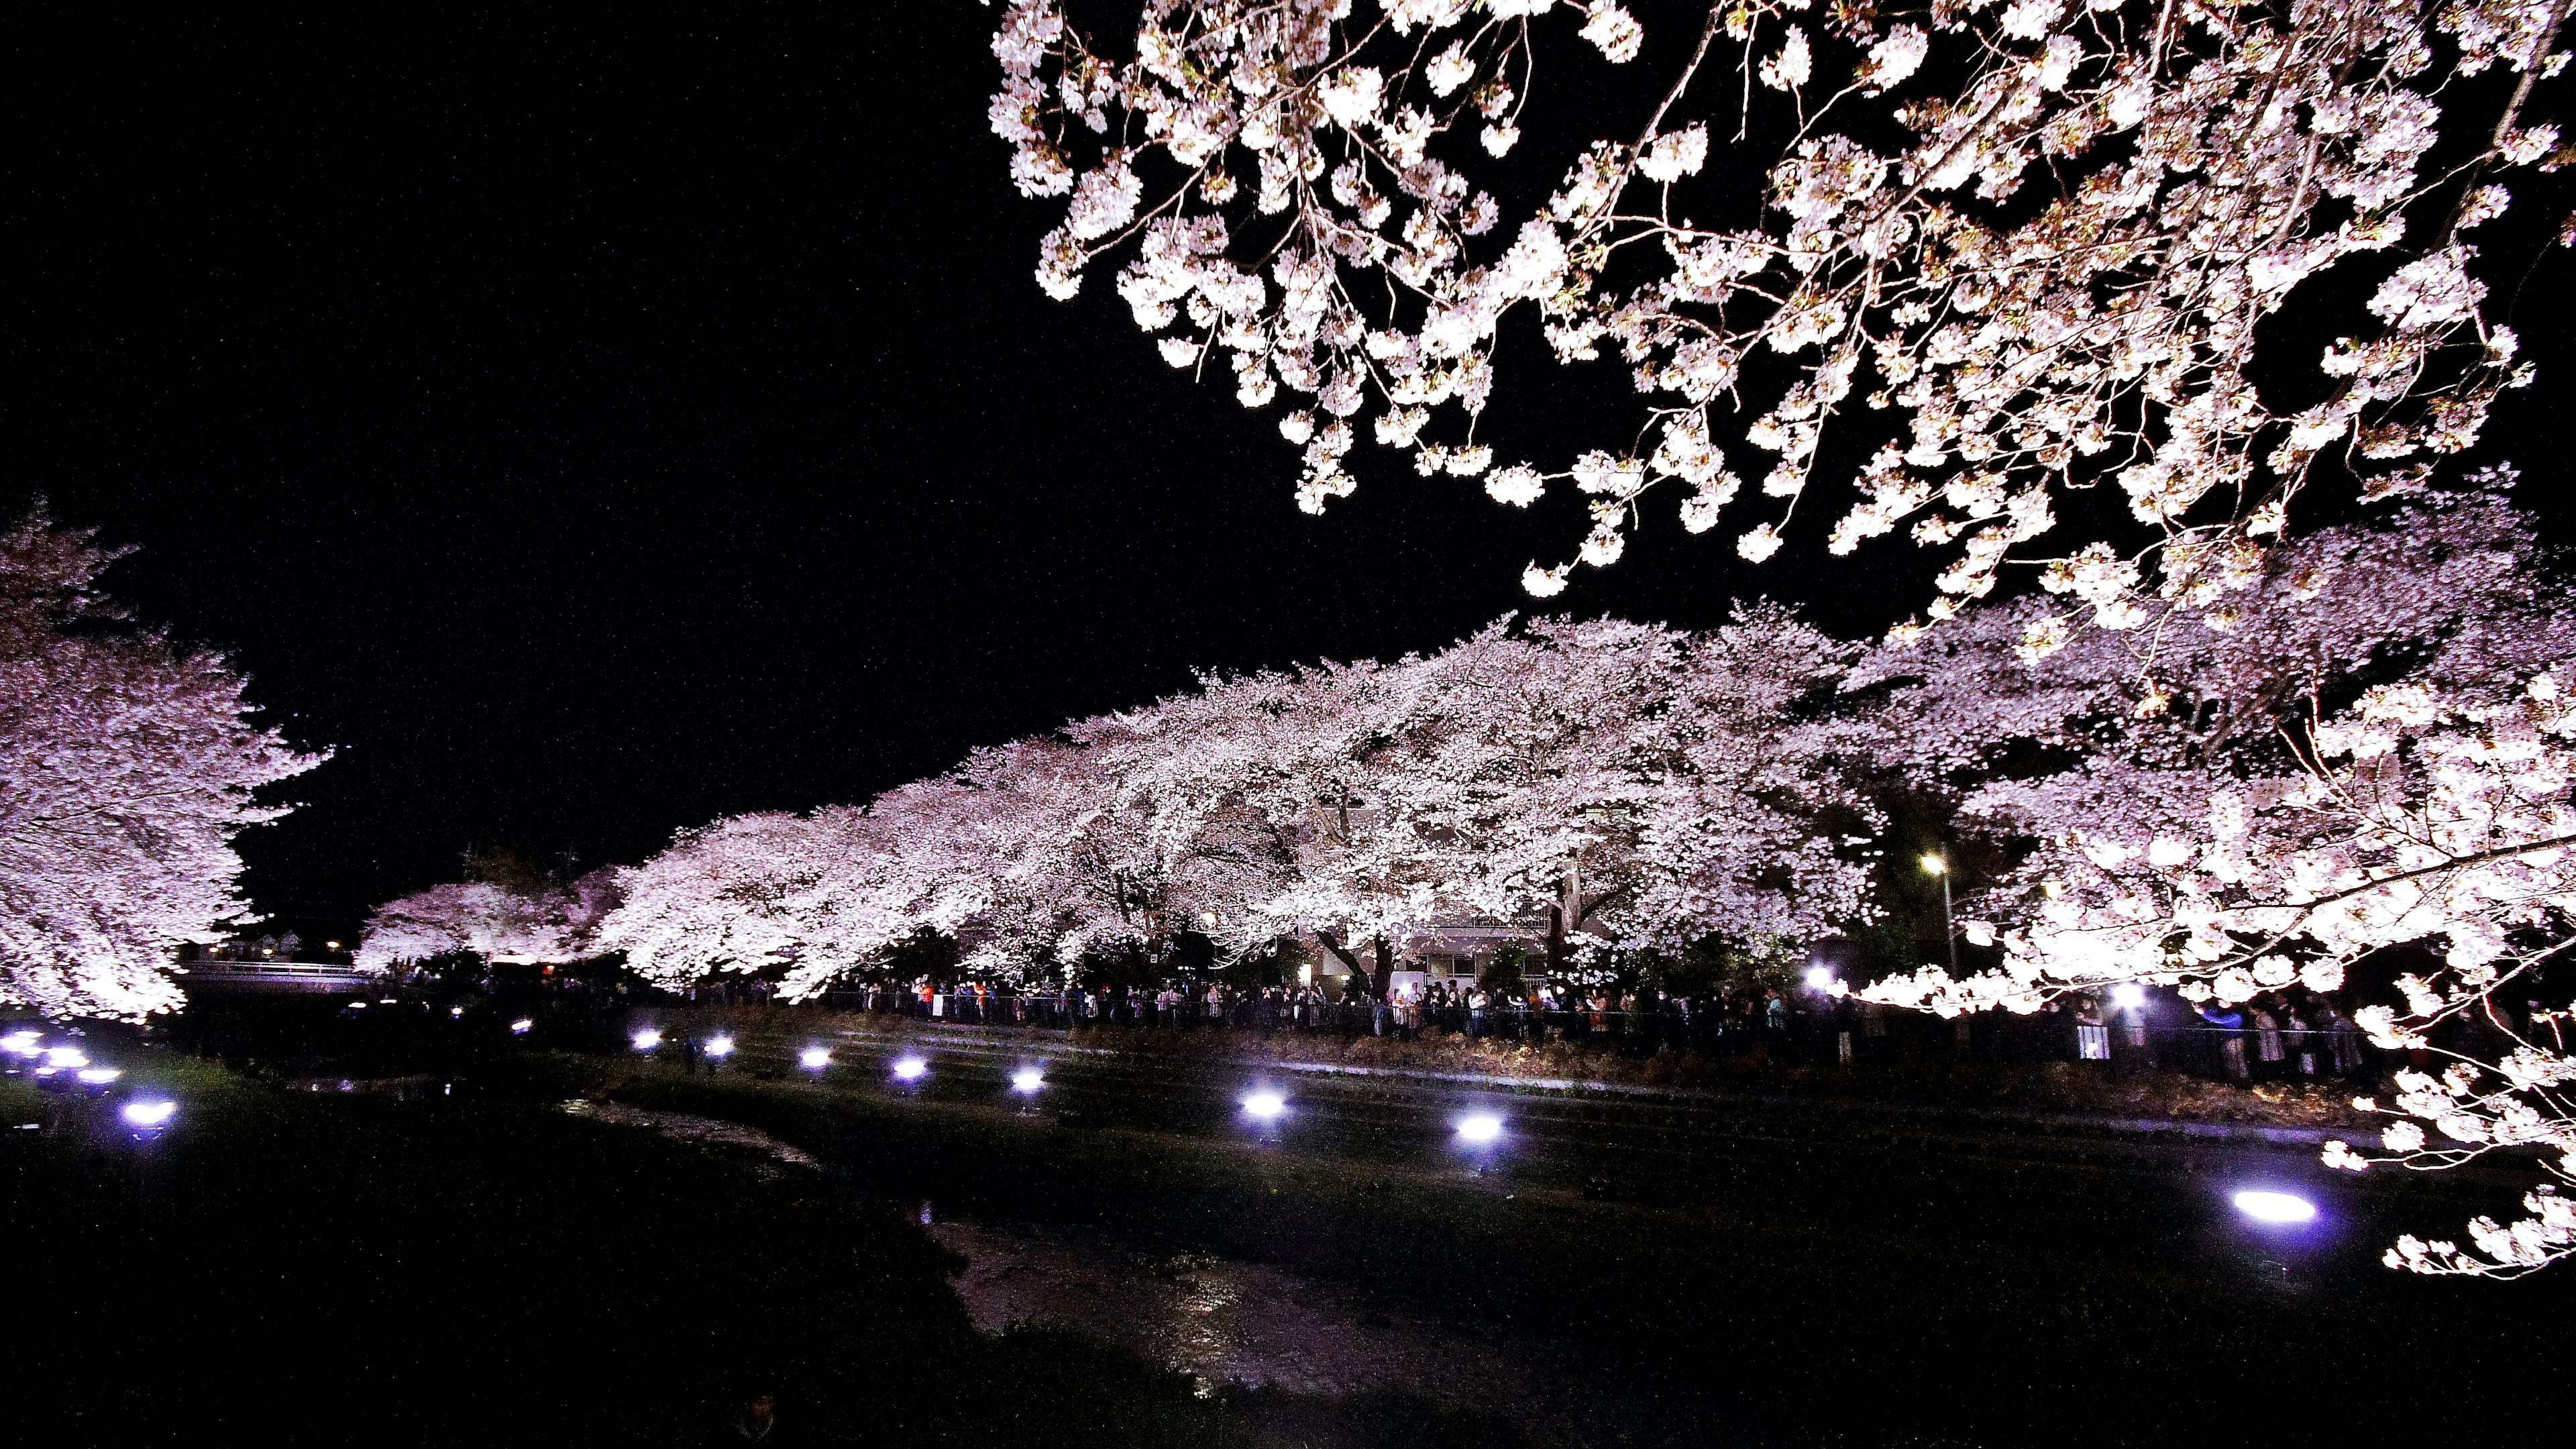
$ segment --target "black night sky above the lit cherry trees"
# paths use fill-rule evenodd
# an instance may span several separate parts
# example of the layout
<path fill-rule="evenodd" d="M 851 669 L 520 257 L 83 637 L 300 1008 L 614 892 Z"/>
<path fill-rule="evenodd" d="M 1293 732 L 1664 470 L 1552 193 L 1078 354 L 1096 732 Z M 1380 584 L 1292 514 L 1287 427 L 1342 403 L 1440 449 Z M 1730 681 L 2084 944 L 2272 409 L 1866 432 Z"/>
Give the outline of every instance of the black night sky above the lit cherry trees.
<path fill-rule="evenodd" d="M 353 915 L 469 843 L 634 861 L 1193 668 L 1437 647 L 1571 554 L 1571 500 L 1391 454 L 1306 518 L 1275 410 L 1164 369 L 1105 271 L 1046 302 L 989 23 L 10 23 L 0 511 L 139 544 L 113 588 L 340 750 L 245 835 L 263 905 Z M 1659 503 L 1558 603 L 1922 601 L 1909 544 L 1826 567 L 1824 523 L 1757 575 Z"/>

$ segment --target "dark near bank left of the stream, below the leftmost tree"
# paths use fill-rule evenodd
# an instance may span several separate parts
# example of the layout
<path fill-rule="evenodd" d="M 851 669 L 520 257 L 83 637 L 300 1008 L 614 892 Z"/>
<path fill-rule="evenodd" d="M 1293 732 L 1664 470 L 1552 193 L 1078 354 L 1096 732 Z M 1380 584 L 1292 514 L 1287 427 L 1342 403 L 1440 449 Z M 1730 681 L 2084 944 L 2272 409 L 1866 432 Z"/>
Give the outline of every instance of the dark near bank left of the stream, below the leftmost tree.
<path fill-rule="evenodd" d="M 160 1057 L 157 1142 L 0 1083 L 18 1444 L 1234 1444 L 1188 1385 L 979 1338 L 940 1250 L 829 1181 L 507 1101 L 286 1093 Z M 992 1392 L 1007 1385 L 1007 1392 Z"/>

